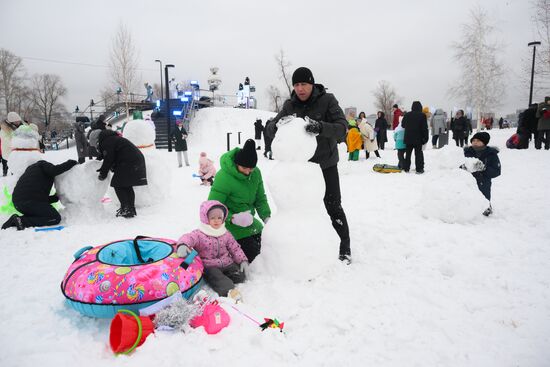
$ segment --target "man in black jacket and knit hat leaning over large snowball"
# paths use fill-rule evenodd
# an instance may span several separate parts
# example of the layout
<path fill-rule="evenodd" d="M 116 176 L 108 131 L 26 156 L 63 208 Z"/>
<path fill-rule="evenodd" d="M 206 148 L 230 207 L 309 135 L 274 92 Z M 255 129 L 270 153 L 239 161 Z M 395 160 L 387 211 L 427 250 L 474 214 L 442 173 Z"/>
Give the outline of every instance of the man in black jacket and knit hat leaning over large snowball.
<path fill-rule="evenodd" d="M 317 148 L 310 162 L 318 163 L 325 180 L 323 201 L 340 237 L 339 259 L 351 263 L 351 246 L 348 221 L 341 205 L 340 179 L 338 177 L 338 142 L 345 140 L 347 121 L 334 95 L 327 93 L 321 84 L 315 84 L 308 68 L 300 67 L 292 74 L 294 91 L 283 108 L 265 128 L 264 134 L 275 137 L 277 122 L 284 116 L 296 115 L 308 121 L 305 129 L 315 135 Z"/>

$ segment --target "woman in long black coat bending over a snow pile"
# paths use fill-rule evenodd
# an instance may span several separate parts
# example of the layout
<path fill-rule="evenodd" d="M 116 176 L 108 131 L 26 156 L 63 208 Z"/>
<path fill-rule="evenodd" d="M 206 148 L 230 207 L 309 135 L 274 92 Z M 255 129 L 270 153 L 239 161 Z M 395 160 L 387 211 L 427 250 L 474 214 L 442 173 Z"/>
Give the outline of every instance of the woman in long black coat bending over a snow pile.
<path fill-rule="evenodd" d="M 103 130 L 98 140 L 103 155 L 103 165 L 98 170 L 99 179 L 106 179 L 109 170 L 114 172 L 111 187 L 120 201 L 116 216 L 132 218 L 136 215 L 133 186 L 147 185 L 145 158 L 132 142 L 112 130 Z"/>

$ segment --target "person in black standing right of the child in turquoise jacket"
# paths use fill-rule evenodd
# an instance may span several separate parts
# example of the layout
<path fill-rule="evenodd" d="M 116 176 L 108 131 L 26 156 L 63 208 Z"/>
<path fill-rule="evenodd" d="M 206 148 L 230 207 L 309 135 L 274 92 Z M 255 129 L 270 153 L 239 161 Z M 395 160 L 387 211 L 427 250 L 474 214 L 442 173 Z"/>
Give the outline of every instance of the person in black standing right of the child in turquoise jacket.
<path fill-rule="evenodd" d="M 424 173 L 424 152 L 422 152 L 422 145 L 428 142 L 429 133 L 428 119 L 422 112 L 422 104 L 419 101 L 413 102 L 411 111 L 403 116 L 401 125 L 405 129 L 405 144 L 407 145 L 403 170 L 409 172 L 411 168 L 411 154 L 414 149 L 416 173 L 422 174 Z"/>

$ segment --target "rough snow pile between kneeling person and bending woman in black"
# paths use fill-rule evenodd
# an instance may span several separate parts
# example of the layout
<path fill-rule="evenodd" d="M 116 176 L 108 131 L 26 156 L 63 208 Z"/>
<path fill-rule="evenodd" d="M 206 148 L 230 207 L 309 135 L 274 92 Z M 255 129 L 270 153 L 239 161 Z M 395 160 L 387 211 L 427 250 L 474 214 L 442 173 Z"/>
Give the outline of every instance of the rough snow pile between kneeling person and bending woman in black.
<path fill-rule="evenodd" d="M 73 224 L 82 217 L 88 220 L 104 215 L 101 199 L 107 192 L 111 174 L 100 181 L 97 170 L 101 164 L 100 161 L 87 161 L 55 178 L 57 196 L 65 206 L 61 214 L 68 223 Z"/>

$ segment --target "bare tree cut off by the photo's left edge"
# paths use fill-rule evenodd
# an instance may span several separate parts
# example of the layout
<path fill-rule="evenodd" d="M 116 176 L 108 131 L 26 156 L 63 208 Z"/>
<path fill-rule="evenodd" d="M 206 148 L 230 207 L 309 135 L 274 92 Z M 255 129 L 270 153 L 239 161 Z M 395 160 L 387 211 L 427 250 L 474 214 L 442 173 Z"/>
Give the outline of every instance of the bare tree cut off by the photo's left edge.
<path fill-rule="evenodd" d="M 23 89 L 24 70 L 22 59 L 6 49 L 0 49 L 0 99 L 3 112 L 16 111 L 16 96 Z"/>

